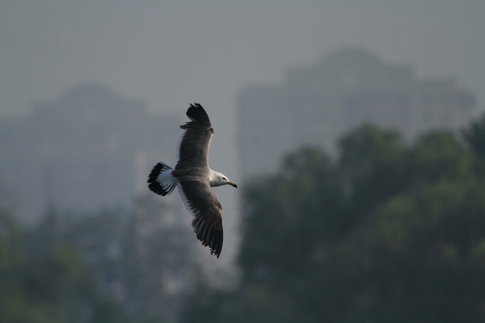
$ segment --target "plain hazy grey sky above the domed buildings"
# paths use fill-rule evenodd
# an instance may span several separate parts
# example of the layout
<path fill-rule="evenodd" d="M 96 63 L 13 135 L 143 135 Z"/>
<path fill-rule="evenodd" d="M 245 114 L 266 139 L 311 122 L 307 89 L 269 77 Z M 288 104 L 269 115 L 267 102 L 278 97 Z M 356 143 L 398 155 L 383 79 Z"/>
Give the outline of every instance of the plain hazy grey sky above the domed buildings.
<path fill-rule="evenodd" d="M 154 110 L 219 110 L 249 82 L 359 45 L 485 105 L 485 1 L 0 1 L 0 116 L 98 81 Z"/>

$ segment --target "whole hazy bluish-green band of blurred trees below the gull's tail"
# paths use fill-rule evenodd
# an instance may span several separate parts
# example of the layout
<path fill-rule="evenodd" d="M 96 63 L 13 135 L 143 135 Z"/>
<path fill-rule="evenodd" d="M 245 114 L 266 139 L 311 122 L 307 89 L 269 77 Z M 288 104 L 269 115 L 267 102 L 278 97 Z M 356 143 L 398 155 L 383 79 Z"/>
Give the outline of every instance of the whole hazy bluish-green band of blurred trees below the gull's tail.
<path fill-rule="evenodd" d="M 33 227 L 0 211 L 0 322 L 173 322 L 199 273 L 192 232 L 157 225 L 163 201 L 136 205 L 91 214 L 52 207 Z M 166 281 L 184 285 L 167 292 Z"/>

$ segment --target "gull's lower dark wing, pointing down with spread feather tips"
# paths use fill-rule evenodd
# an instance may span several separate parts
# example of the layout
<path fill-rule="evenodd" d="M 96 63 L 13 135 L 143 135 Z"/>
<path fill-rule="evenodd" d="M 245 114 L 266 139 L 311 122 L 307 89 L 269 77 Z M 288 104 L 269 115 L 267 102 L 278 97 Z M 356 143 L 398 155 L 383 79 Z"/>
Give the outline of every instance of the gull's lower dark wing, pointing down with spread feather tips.
<path fill-rule="evenodd" d="M 175 171 L 177 172 L 177 171 Z M 179 180 L 177 183 L 180 196 L 188 211 L 192 213 L 192 227 L 202 245 L 211 249 L 211 254 L 219 258 L 222 250 L 222 209 L 215 197 L 209 181 Z"/>

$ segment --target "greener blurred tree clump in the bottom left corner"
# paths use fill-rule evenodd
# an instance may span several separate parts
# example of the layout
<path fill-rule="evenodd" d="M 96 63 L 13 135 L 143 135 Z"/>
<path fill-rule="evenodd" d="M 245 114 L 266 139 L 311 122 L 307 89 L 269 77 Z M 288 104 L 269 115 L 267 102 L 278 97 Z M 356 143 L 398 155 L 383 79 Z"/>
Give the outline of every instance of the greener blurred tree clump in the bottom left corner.
<path fill-rule="evenodd" d="M 94 295 L 89 270 L 71 245 L 53 243 L 51 230 L 44 232 L 49 241 L 29 254 L 30 232 L 0 213 L 0 322 L 83 322 L 79 304 Z"/>

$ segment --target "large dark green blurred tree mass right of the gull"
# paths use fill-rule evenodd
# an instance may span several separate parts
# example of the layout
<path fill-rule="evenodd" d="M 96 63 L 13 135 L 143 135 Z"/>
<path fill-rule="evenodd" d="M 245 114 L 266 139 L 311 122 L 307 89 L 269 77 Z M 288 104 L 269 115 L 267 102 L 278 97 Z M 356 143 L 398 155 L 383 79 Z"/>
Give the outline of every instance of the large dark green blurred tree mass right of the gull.
<path fill-rule="evenodd" d="M 336 161 L 285 157 L 245 188 L 238 288 L 182 322 L 484 322 L 485 117 L 464 134 L 364 125 Z"/>

